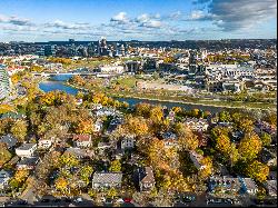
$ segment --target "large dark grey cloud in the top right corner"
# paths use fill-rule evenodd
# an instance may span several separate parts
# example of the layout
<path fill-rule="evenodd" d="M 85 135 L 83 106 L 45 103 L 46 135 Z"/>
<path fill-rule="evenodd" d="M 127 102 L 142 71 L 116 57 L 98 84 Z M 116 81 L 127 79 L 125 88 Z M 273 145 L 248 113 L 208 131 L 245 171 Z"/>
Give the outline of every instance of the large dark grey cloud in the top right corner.
<path fill-rule="evenodd" d="M 225 31 L 252 28 L 277 17 L 276 0 L 198 0 L 196 3 L 208 3 L 207 18 L 201 18 L 199 12 L 195 13 L 197 19 L 208 20 L 209 17 Z"/>

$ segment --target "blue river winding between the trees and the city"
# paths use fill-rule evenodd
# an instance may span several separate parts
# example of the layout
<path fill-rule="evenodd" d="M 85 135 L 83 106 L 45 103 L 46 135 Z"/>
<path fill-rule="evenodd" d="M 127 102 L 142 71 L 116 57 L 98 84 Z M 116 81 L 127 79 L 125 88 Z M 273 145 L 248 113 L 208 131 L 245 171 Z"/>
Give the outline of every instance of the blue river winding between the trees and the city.
<path fill-rule="evenodd" d="M 64 91 L 64 92 L 70 93 L 70 95 L 77 95 L 77 92 L 79 91 L 78 89 L 64 85 L 64 81 L 67 81 L 70 77 L 71 76 L 59 76 L 59 75 L 51 77 L 49 80 L 40 82 L 39 88 L 44 92 L 49 92 L 49 91 L 53 91 L 53 90 L 61 90 L 61 91 Z M 180 102 L 170 102 L 170 101 L 158 101 L 158 100 L 148 100 L 148 99 L 140 99 L 140 98 L 115 98 L 115 99 L 117 99 L 119 101 L 126 101 L 129 103 L 129 106 L 133 106 L 133 105 L 137 105 L 139 102 L 147 102 L 147 103 L 151 103 L 151 105 L 166 106 L 168 108 L 181 107 L 181 108 L 185 108 L 187 110 L 191 110 L 191 109 L 197 108 L 197 109 L 201 109 L 203 111 L 208 110 L 210 112 L 219 112 L 224 109 L 222 107 L 180 103 Z"/>

